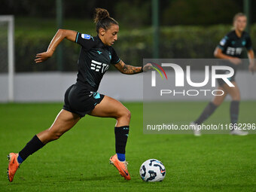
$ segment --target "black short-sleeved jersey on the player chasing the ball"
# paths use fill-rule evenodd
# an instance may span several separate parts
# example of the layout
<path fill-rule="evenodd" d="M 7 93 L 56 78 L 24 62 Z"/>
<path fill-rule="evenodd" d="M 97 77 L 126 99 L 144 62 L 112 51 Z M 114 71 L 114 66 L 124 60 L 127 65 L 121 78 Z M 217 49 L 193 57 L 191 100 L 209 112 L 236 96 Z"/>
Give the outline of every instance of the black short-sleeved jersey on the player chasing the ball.
<path fill-rule="evenodd" d="M 93 37 L 78 32 L 75 42 L 81 45 L 77 81 L 90 84 L 96 91 L 109 65 L 116 64 L 120 59 L 114 48 L 103 44 L 98 35 Z"/>

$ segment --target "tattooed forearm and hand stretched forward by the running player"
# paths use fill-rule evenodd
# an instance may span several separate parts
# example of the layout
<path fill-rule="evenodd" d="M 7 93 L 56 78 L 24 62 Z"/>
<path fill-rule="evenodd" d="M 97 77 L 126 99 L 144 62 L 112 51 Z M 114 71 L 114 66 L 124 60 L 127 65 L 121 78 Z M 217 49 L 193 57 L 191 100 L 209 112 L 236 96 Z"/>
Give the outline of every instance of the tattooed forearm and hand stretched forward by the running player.
<path fill-rule="evenodd" d="M 150 63 L 148 63 L 144 67 L 130 66 L 130 65 L 126 65 L 121 59 L 119 62 L 117 62 L 117 64 L 114 65 L 114 67 L 116 69 L 118 69 L 118 71 L 120 71 L 123 74 L 127 74 L 127 75 L 133 75 L 133 74 L 137 74 L 137 73 L 141 73 L 141 72 L 146 72 L 146 71 L 148 71 L 148 68 L 150 68 L 150 66 L 151 66 Z"/>

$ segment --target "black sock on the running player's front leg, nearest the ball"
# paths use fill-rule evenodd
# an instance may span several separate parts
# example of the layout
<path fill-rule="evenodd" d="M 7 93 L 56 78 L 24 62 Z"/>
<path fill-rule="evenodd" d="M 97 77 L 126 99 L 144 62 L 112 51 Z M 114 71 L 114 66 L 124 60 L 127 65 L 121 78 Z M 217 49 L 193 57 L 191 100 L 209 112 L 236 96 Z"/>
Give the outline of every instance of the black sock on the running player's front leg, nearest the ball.
<path fill-rule="evenodd" d="M 114 127 L 115 135 L 115 152 L 125 154 L 126 142 L 129 134 L 129 126 Z"/>

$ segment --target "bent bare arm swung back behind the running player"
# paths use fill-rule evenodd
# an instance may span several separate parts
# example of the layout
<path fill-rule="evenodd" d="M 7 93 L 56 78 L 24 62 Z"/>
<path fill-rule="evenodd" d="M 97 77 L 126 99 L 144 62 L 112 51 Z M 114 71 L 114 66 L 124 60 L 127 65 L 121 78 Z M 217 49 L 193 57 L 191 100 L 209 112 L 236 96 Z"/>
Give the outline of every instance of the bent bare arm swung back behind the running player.
<path fill-rule="evenodd" d="M 46 52 L 38 53 L 35 56 L 35 62 L 43 62 L 53 56 L 56 47 L 58 47 L 59 43 L 64 39 L 68 39 L 69 41 L 74 41 L 78 32 L 67 30 L 67 29 L 59 29 L 58 32 L 54 35 L 53 39 L 50 41 L 49 47 Z"/>

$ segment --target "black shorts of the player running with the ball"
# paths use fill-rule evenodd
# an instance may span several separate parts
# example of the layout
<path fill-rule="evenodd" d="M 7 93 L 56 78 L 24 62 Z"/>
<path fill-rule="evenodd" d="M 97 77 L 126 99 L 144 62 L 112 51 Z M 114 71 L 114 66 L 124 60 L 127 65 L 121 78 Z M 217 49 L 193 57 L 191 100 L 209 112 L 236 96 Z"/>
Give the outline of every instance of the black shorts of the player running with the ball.
<path fill-rule="evenodd" d="M 84 117 L 99 104 L 104 95 L 93 91 L 88 84 L 77 82 L 66 90 L 63 109 Z"/>

